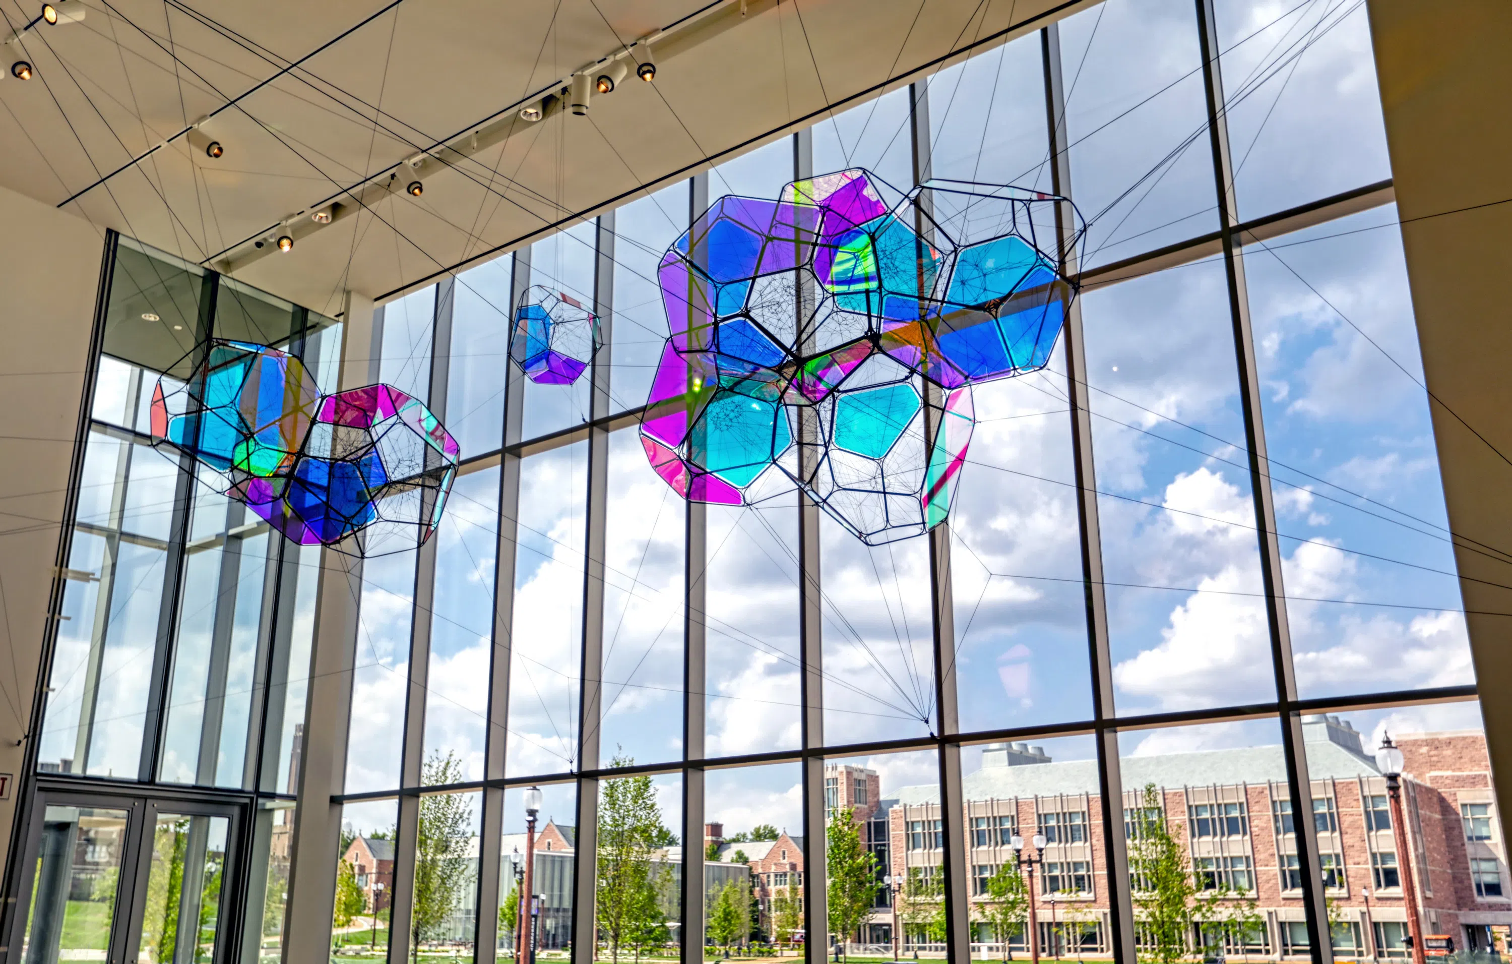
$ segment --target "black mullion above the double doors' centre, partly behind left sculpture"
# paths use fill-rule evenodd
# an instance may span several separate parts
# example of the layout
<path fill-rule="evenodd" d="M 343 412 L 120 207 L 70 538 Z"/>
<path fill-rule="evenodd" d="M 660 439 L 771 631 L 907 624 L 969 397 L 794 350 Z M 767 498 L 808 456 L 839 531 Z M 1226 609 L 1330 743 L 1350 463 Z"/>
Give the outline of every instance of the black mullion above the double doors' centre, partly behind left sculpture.
<path fill-rule="evenodd" d="M 221 291 L 221 275 L 204 272 L 200 295 L 200 316 L 195 319 L 194 369 L 206 362 L 215 327 L 215 304 Z M 192 377 L 192 375 L 191 375 Z M 127 483 L 130 484 L 130 483 Z M 168 708 L 168 666 L 178 639 L 178 598 L 183 589 L 184 539 L 189 533 L 189 510 L 194 505 L 197 471 L 194 456 L 178 454 L 178 478 L 174 483 L 174 508 L 168 524 L 168 551 L 163 557 L 163 596 L 157 610 L 157 642 L 153 648 L 153 669 L 148 676 L 147 716 L 142 720 L 142 755 L 136 778 L 153 782 L 163 752 L 162 722 Z"/>

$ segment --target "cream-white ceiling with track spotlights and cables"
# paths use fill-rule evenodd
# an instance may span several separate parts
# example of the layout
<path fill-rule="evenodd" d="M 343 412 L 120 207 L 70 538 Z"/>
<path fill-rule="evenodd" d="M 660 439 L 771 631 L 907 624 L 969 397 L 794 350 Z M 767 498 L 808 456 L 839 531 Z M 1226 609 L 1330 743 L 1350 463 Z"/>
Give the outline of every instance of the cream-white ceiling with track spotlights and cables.
<path fill-rule="evenodd" d="M 393 295 L 1087 2 L 85 0 L 82 23 L 5 48 L 36 77 L 0 82 L 0 185 L 59 204 L 124 166 L 67 207 L 334 312 L 343 289 Z M 0 0 L 12 29 L 27 3 Z M 655 83 L 519 123 L 434 165 L 420 198 L 349 194 L 668 27 Z M 218 109 L 204 130 L 222 159 L 177 138 L 133 163 Z M 251 247 L 330 200 L 349 216 L 301 216 L 286 254 Z"/>

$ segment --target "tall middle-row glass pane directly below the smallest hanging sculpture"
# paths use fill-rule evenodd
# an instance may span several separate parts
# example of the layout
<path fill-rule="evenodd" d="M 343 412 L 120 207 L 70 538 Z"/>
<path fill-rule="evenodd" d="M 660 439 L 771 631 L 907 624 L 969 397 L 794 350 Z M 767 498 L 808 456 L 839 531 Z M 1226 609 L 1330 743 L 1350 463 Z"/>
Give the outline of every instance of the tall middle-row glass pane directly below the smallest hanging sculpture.
<path fill-rule="evenodd" d="M 578 760 L 588 443 L 520 465 L 510 648 L 510 776 L 564 773 Z"/>

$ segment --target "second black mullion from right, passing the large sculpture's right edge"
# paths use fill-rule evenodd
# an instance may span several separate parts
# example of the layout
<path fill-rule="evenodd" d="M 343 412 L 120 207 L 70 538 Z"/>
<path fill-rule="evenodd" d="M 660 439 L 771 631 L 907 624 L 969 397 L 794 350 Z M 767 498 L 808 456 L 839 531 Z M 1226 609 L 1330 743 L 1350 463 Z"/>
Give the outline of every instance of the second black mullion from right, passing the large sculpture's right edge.
<path fill-rule="evenodd" d="M 1045 64 L 1045 107 L 1049 126 L 1051 189 L 1067 198 L 1055 204 L 1057 254 L 1061 274 L 1080 269 L 1077 221 L 1069 198 L 1070 144 L 1066 130 L 1066 88 L 1060 68 L 1060 26 L 1040 32 Z M 1098 477 L 1092 451 L 1092 409 L 1087 389 L 1087 353 L 1081 327 L 1081 303 L 1066 312 L 1066 395 L 1070 403 L 1072 465 L 1077 477 L 1077 518 L 1081 530 L 1081 578 L 1086 601 L 1092 713 L 1099 723 L 1114 719 L 1113 657 L 1108 646 L 1108 607 L 1102 571 L 1102 528 L 1098 515 Z M 1099 728 L 1098 793 L 1102 804 L 1104 887 L 1108 893 L 1110 944 L 1119 964 L 1136 964 L 1134 900 L 1129 891 L 1128 841 L 1123 838 L 1123 767 L 1119 734 Z M 1036 855 L 1039 857 L 1039 855 Z M 1037 900 L 1039 894 L 1030 894 Z"/>

